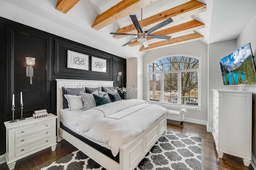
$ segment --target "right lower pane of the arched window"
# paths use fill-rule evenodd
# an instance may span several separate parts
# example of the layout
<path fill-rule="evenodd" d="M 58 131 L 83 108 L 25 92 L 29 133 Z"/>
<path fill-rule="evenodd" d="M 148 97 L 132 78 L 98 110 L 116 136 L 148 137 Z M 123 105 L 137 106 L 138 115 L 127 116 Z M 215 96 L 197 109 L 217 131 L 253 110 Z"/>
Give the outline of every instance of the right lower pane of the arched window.
<path fill-rule="evenodd" d="M 181 104 L 198 106 L 198 72 L 181 73 Z"/>

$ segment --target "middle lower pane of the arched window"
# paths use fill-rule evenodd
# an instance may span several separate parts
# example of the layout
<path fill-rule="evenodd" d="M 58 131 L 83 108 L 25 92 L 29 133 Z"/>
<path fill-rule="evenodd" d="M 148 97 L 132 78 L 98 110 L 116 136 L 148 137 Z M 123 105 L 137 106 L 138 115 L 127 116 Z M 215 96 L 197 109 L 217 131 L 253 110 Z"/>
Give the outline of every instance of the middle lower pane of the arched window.
<path fill-rule="evenodd" d="M 178 74 L 164 74 L 164 101 L 166 103 L 178 102 Z"/>

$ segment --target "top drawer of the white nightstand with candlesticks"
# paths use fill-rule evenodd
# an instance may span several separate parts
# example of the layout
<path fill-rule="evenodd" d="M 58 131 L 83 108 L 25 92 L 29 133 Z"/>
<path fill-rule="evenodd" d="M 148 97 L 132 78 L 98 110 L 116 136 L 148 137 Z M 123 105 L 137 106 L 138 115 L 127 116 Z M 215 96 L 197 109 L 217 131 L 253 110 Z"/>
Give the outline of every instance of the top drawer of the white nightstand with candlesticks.
<path fill-rule="evenodd" d="M 18 129 L 15 129 L 15 137 L 26 135 L 28 133 L 32 133 L 34 131 L 38 131 L 41 129 L 46 129 L 49 127 L 52 127 L 52 122 L 45 122 L 45 123 L 30 125 L 25 128 L 18 128 Z"/>

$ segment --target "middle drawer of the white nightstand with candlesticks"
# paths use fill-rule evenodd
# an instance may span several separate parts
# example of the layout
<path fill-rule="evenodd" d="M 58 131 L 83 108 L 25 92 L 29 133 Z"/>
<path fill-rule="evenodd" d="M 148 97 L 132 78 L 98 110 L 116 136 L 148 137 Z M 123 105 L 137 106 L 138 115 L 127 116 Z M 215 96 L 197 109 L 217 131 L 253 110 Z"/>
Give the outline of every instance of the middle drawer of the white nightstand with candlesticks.
<path fill-rule="evenodd" d="M 52 135 L 52 129 L 45 129 L 43 131 L 40 132 L 36 132 L 30 135 L 26 135 L 26 136 L 20 136 L 15 138 L 15 146 L 19 146 L 19 145 L 24 145 L 26 143 L 30 143 L 31 141 L 36 141 L 37 139 L 46 137 L 48 135 Z"/>

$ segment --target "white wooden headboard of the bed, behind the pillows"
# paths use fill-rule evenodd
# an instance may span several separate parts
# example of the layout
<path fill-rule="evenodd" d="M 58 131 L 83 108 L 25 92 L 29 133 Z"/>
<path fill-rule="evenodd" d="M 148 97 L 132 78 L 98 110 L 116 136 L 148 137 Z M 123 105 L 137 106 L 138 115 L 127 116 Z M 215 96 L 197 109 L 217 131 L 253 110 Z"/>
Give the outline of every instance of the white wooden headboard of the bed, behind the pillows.
<path fill-rule="evenodd" d="M 71 79 L 56 79 L 57 82 L 57 135 L 58 128 L 60 127 L 60 109 L 62 109 L 62 87 L 66 88 L 97 88 L 97 87 L 112 87 L 114 81 L 100 81 L 100 80 L 71 80 Z M 60 136 L 58 135 L 57 141 L 60 141 Z"/>

